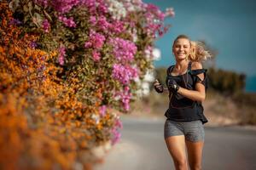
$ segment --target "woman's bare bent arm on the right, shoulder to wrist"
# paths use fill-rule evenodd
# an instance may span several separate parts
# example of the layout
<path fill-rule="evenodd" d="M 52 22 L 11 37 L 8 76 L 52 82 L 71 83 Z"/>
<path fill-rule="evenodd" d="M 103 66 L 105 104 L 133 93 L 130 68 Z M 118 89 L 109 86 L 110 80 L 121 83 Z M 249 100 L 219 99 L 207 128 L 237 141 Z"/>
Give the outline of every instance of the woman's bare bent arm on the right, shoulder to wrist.
<path fill-rule="evenodd" d="M 191 65 L 191 70 L 202 69 L 200 62 L 193 62 Z M 201 82 L 204 80 L 204 73 L 196 75 L 201 79 Z M 195 101 L 204 101 L 206 99 L 206 87 L 201 83 L 195 83 L 195 90 L 189 90 L 186 88 L 179 87 L 177 90 L 178 94 L 182 94 L 184 97 L 195 100 Z"/>

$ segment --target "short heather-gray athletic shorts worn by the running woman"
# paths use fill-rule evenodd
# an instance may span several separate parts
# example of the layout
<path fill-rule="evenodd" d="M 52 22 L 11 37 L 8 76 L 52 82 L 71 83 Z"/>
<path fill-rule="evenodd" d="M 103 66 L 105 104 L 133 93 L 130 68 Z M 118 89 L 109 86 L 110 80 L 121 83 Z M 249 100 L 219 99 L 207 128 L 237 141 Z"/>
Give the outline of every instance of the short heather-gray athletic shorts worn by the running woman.
<path fill-rule="evenodd" d="M 191 122 L 177 122 L 166 119 L 165 139 L 170 136 L 184 135 L 191 142 L 204 141 L 205 130 L 200 120 Z"/>

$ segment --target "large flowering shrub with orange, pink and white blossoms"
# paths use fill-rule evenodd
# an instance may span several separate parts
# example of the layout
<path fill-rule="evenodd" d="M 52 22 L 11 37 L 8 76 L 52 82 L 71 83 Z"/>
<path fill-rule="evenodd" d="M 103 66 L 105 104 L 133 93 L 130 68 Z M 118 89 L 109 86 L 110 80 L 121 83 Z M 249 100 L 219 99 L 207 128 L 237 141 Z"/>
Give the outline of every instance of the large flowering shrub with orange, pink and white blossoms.
<path fill-rule="evenodd" d="M 139 0 L 0 4 L 0 167 L 88 166 L 119 140 L 166 14 Z"/>

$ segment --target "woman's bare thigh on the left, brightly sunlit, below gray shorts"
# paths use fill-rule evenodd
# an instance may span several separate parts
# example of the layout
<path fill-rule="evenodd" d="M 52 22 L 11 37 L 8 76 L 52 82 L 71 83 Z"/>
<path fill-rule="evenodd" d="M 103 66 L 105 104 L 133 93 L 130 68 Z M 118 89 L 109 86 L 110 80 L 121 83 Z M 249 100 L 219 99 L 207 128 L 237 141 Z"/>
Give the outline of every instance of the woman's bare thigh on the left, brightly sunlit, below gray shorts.
<path fill-rule="evenodd" d="M 188 170 L 184 135 L 166 138 L 166 145 L 172 156 L 176 170 Z"/>

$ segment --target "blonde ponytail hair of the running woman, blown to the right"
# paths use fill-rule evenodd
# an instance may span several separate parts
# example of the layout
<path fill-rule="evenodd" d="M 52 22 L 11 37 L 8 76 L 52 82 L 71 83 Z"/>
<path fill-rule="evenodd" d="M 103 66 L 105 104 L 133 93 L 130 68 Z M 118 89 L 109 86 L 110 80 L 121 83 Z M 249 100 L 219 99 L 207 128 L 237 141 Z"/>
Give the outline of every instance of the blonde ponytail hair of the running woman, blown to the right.
<path fill-rule="evenodd" d="M 173 42 L 172 48 L 177 42 L 177 39 L 184 38 L 188 39 L 190 43 L 190 54 L 188 59 L 190 61 L 204 61 L 207 60 L 208 58 L 211 58 L 212 55 L 211 53 L 207 50 L 206 46 L 202 42 L 196 42 L 196 41 L 191 41 L 188 36 L 185 35 L 179 35 Z"/>

